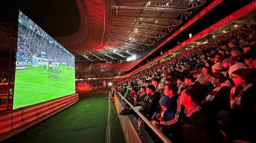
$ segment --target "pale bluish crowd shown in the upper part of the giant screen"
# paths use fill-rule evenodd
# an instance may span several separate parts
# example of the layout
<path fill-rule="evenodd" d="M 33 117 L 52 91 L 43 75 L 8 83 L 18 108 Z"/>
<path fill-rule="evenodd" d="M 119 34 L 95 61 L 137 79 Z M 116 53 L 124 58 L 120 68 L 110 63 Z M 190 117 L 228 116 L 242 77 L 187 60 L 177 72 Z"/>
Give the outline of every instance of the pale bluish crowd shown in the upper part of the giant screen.
<path fill-rule="evenodd" d="M 25 15 L 21 14 L 20 16 L 29 24 L 33 24 L 33 22 Z M 46 34 L 37 25 L 34 24 L 33 26 L 35 26 L 36 30 L 40 30 L 41 34 Z M 39 54 L 43 53 L 48 61 L 63 62 L 74 68 L 74 56 L 71 56 L 66 51 L 62 50 L 58 45 L 50 43 L 48 39 L 38 35 L 37 32 L 28 27 L 19 24 L 18 29 L 17 59 L 32 60 L 33 56 L 37 57 Z"/>

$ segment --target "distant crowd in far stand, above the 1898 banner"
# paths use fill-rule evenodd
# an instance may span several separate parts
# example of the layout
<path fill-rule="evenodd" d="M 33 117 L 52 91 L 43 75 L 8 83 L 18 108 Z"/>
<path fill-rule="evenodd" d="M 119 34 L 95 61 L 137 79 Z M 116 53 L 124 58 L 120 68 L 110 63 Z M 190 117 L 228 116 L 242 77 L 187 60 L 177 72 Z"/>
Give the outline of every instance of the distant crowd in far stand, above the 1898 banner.
<path fill-rule="evenodd" d="M 116 66 L 100 66 L 97 64 L 76 64 L 76 74 L 99 74 L 99 73 L 113 73 L 120 71 Z"/>

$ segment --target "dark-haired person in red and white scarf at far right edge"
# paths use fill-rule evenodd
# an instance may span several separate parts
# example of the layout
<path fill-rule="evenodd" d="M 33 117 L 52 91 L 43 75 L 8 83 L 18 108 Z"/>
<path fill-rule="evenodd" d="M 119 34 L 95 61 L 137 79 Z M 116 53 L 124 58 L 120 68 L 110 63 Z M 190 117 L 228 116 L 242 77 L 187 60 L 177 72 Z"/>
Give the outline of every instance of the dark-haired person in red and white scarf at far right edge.
<path fill-rule="evenodd" d="M 238 69 L 232 72 L 235 86 L 230 91 L 230 111 L 221 111 L 219 118 L 232 140 L 255 142 L 256 128 L 253 105 L 256 103 L 255 71 Z M 226 119 L 223 119 L 226 118 Z"/>

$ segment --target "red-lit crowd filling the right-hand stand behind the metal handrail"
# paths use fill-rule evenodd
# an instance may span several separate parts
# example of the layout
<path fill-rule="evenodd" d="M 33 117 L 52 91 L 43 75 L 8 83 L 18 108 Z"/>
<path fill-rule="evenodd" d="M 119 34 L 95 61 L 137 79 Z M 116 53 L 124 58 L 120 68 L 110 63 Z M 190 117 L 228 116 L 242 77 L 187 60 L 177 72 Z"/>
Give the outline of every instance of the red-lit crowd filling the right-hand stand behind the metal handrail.
<path fill-rule="evenodd" d="M 255 30 L 239 26 L 114 87 L 173 142 L 256 142 Z"/>

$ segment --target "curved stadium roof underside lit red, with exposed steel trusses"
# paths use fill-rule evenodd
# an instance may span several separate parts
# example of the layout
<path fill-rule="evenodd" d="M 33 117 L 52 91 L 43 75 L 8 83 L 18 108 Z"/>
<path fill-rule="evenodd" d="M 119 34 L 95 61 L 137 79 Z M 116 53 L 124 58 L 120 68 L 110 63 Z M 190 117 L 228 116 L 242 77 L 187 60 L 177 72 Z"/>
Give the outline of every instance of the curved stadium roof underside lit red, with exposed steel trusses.
<path fill-rule="evenodd" d="M 55 37 L 76 61 L 139 54 L 169 34 L 206 0 L 76 0 L 80 28 Z"/>

